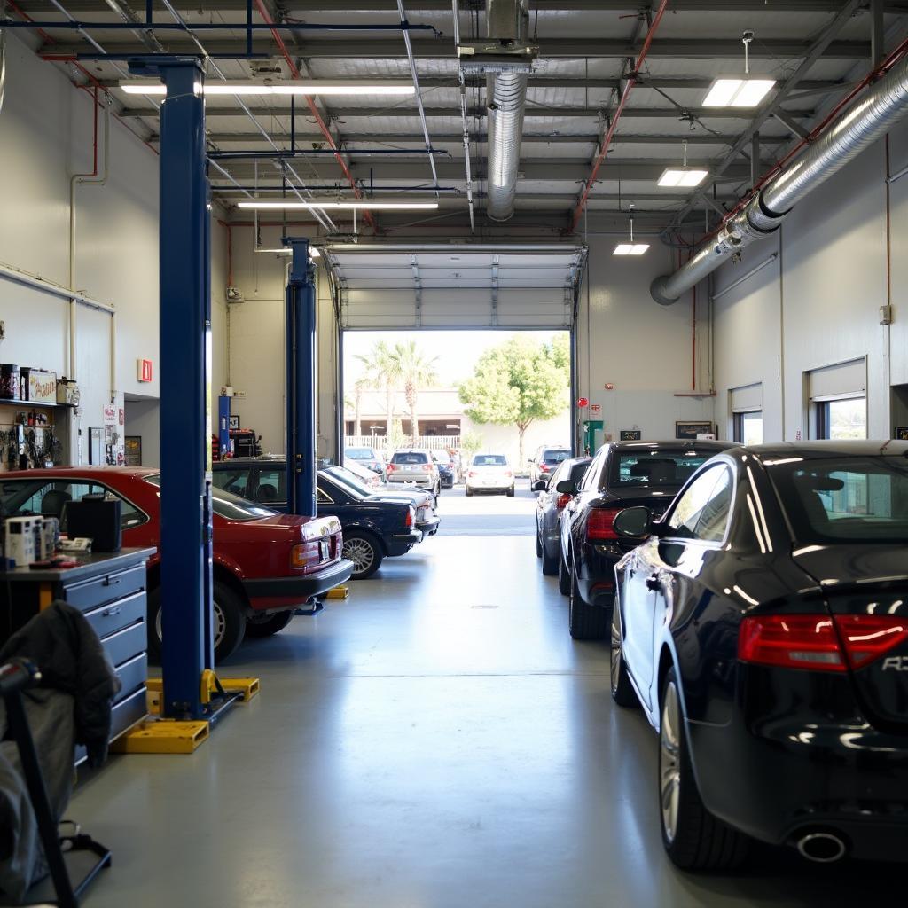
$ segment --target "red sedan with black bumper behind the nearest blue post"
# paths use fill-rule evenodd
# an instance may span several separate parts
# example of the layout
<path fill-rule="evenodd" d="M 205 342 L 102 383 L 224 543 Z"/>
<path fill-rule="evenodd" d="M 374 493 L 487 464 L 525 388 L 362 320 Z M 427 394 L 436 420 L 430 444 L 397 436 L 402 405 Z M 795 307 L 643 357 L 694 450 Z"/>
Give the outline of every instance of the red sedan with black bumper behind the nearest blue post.
<path fill-rule="evenodd" d="M 61 467 L 5 473 L 0 498 L 7 517 L 44 514 L 61 520 L 66 503 L 104 494 L 121 501 L 123 545 L 157 546 L 160 474 L 138 467 Z M 244 636 L 267 637 L 290 623 L 294 608 L 350 578 L 341 558 L 341 522 L 276 514 L 212 489 L 214 657 L 220 662 Z M 160 563 L 148 570 L 149 649 L 161 650 Z"/>

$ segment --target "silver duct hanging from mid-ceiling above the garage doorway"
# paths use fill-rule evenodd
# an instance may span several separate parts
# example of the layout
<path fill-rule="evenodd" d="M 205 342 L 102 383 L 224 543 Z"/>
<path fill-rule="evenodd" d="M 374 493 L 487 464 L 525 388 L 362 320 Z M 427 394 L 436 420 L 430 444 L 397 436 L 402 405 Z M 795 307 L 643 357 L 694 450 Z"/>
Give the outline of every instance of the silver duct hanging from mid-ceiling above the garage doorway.
<path fill-rule="evenodd" d="M 489 42 L 503 46 L 525 44 L 529 22 L 528 0 L 486 0 Z M 527 74 L 488 73 L 486 76 L 489 173 L 487 213 L 493 221 L 507 221 L 514 213 L 520 164 L 520 138 L 527 109 Z"/>

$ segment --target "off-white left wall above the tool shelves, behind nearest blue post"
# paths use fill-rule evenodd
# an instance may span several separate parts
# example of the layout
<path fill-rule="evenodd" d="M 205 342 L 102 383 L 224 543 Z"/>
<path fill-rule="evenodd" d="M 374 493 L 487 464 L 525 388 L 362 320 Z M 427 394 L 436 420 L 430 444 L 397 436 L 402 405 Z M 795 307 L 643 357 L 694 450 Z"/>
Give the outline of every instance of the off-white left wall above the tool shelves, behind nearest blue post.
<path fill-rule="evenodd" d="M 14 35 L 7 49 L 5 103 L 0 111 L 0 262 L 60 286 L 69 283 L 69 184 L 92 170 L 93 100 L 64 73 L 39 60 Z M 103 143 L 103 117 L 99 119 Z M 117 312 L 116 390 L 156 396 L 158 350 L 158 157 L 122 123 L 110 129 L 105 186 L 76 188 L 74 288 Z M 99 164 L 103 148 L 99 153 Z M 215 222 L 212 271 L 222 272 L 224 242 Z M 212 285 L 222 284 L 222 276 Z M 0 279 L 6 340 L 0 360 L 72 375 L 68 303 Z M 214 296 L 213 381 L 226 368 L 223 293 Z M 102 424 L 111 388 L 110 316 L 78 308 L 75 375 L 82 394 L 74 430 Z M 154 380 L 137 380 L 136 360 L 154 362 Z M 87 445 L 87 441 L 84 442 Z M 87 452 L 87 448 L 85 449 Z M 87 453 L 86 453 L 87 456 Z M 72 457 L 77 457 L 73 444 Z"/>

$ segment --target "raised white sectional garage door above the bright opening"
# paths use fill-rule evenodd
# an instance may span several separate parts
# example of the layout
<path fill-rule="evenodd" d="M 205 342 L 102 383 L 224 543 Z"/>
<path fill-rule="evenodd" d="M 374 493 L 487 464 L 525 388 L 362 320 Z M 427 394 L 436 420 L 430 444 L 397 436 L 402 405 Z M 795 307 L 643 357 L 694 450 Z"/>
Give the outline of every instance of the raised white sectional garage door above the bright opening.
<path fill-rule="evenodd" d="M 362 245 L 323 250 L 344 329 L 571 328 L 587 248 Z"/>

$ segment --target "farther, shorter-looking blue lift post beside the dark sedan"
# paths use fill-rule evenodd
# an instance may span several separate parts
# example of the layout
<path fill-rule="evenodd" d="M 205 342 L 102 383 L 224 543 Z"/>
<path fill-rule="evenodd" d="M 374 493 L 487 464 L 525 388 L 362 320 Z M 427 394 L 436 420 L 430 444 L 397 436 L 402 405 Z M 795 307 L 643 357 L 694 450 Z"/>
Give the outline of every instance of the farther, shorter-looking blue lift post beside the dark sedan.
<path fill-rule="evenodd" d="M 309 241 L 284 241 L 293 253 L 287 283 L 287 504 L 315 517 L 315 284 Z"/>

